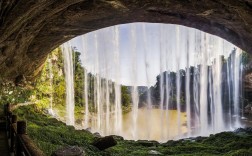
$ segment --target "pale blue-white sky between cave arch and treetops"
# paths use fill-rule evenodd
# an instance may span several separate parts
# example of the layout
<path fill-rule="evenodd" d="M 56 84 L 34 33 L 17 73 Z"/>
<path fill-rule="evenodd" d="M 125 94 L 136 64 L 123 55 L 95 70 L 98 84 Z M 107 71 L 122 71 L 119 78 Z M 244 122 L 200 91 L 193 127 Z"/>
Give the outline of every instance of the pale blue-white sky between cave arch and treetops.
<path fill-rule="evenodd" d="M 204 63 L 203 58 L 211 64 L 235 47 L 194 28 L 157 23 L 112 26 L 78 36 L 70 44 L 81 52 L 89 72 L 136 86 L 154 85 L 161 72 Z"/>

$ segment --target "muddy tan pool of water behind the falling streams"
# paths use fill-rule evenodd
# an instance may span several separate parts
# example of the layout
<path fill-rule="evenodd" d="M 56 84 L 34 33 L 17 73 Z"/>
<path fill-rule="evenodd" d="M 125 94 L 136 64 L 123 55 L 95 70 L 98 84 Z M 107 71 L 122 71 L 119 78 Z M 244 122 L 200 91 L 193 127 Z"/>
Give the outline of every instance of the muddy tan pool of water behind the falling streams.
<path fill-rule="evenodd" d="M 181 125 L 178 125 L 178 113 L 176 110 L 161 110 L 161 109 L 138 109 L 138 116 L 136 121 L 137 132 L 133 129 L 132 111 L 123 115 L 122 131 L 117 134 L 113 131 L 115 123 L 114 113 L 111 113 L 109 128 L 105 124 L 101 124 L 98 128 L 96 125 L 96 115 L 90 116 L 89 128 L 91 132 L 98 132 L 102 136 L 106 135 L 120 135 L 127 140 L 156 140 L 166 142 L 168 140 L 180 139 L 186 136 L 186 113 L 181 112 Z M 106 114 L 103 114 L 102 119 L 105 120 Z M 149 124 L 151 123 L 151 124 Z M 84 122 L 83 122 L 84 124 Z M 148 127 L 150 126 L 150 127 Z M 75 128 L 82 129 L 83 125 L 75 125 Z M 107 131 L 108 130 L 108 131 Z M 180 134 L 179 134 L 180 132 Z M 134 134 L 135 133 L 135 134 Z"/>

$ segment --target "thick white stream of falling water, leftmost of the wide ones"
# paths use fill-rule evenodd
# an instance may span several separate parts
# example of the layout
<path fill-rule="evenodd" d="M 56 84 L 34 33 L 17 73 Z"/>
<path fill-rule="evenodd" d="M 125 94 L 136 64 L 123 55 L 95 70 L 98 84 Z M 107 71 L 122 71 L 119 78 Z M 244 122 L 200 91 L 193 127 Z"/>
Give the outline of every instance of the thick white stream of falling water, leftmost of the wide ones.
<path fill-rule="evenodd" d="M 64 72 L 66 83 L 66 124 L 74 125 L 74 71 L 73 71 L 73 53 L 69 42 L 62 45 L 62 54 L 64 59 Z"/>

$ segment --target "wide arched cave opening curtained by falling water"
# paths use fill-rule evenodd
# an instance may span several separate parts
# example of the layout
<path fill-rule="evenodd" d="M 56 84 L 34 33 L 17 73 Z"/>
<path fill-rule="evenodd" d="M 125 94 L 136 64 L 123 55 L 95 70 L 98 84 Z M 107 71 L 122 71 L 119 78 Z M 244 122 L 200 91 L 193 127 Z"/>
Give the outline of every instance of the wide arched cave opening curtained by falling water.
<path fill-rule="evenodd" d="M 161 142 L 242 126 L 245 52 L 220 37 L 180 25 L 131 23 L 79 36 L 60 51 L 67 125 Z M 52 99 L 50 112 L 57 109 Z"/>

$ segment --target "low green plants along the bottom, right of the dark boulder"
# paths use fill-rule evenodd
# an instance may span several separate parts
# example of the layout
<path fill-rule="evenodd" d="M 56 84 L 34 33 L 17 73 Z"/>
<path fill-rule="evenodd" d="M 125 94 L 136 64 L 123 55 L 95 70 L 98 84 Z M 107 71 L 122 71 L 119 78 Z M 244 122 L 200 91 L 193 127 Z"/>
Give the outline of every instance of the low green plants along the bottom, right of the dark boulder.
<path fill-rule="evenodd" d="M 251 155 L 252 133 L 236 134 L 222 132 L 210 137 L 198 137 L 194 139 L 170 140 L 166 143 L 154 143 L 145 146 L 140 142 L 117 139 L 118 145 L 107 151 L 113 156 L 120 155 L 150 155 L 154 150 L 160 155 Z"/>

